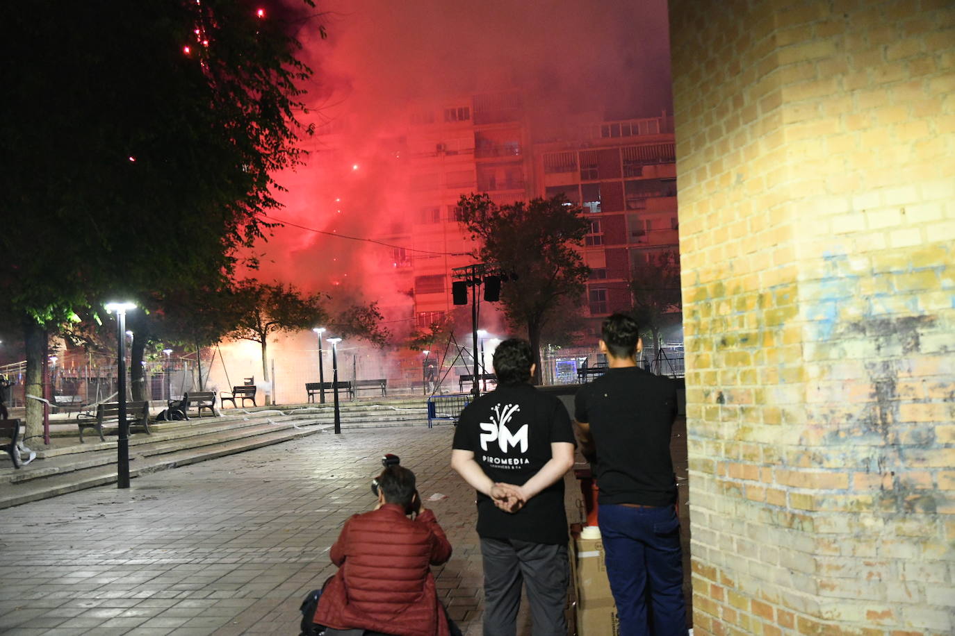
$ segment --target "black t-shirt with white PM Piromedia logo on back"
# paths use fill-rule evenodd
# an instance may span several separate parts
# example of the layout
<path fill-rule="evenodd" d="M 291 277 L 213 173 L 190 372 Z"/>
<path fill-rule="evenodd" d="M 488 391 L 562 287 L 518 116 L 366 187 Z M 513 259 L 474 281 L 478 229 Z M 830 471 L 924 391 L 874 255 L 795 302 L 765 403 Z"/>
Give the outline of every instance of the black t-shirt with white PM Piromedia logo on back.
<path fill-rule="evenodd" d="M 521 485 L 550 461 L 550 444 L 557 441 L 574 443 L 574 430 L 561 400 L 530 384 L 515 384 L 499 386 L 461 412 L 454 447 L 472 451 L 495 482 Z M 500 510 L 490 497 L 477 493 L 477 534 L 536 544 L 565 543 L 563 480 L 515 513 Z"/>

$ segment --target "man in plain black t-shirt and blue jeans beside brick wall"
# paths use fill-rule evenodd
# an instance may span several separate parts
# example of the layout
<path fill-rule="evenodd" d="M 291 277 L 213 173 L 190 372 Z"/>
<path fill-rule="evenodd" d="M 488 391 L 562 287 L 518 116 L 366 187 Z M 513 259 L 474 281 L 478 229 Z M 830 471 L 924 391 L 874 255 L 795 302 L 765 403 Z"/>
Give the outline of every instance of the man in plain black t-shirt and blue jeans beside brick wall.
<path fill-rule="evenodd" d="M 598 524 L 621 636 L 687 633 L 676 479 L 676 382 L 636 364 L 637 323 L 603 324 L 607 372 L 577 392 L 578 434 L 600 487 Z"/>

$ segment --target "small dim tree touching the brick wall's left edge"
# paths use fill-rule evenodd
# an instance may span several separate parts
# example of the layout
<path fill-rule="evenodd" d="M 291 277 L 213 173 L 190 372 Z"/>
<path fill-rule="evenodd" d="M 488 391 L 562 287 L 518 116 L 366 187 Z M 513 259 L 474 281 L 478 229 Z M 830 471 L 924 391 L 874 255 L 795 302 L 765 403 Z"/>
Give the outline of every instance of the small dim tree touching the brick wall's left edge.
<path fill-rule="evenodd" d="M 680 256 L 672 251 L 650 254 L 647 262 L 630 271 L 633 318 L 650 333 L 654 349 L 660 345 L 664 316 L 681 311 Z"/>

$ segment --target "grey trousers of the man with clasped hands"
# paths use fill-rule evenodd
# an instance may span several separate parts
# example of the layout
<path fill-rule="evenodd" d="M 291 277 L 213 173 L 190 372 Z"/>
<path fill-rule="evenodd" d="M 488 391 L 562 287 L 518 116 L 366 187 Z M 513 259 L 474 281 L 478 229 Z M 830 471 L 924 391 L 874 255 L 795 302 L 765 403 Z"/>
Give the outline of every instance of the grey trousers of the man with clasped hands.
<path fill-rule="evenodd" d="M 527 590 L 533 636 L 566 636 L 567 546 L 517 539 L 480 540 L 484 563 L 484 636 L 515 636 L 520 587 Z"/>

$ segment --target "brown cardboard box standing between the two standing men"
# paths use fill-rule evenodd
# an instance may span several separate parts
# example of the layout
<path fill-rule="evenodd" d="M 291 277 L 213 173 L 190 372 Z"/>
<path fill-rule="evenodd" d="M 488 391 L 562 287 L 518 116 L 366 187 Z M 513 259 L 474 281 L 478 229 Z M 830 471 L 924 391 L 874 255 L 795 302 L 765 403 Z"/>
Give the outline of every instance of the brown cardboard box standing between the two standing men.
<path fill-rule="evenodd" d="M 570 568 L 577 598 L 577 636 L 617 636 L 620 623 L 606 578 L 604 542 L 582 539 L 579 524 L 570 526 Z"/>

